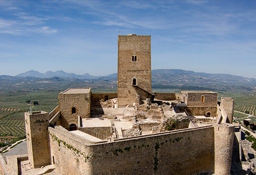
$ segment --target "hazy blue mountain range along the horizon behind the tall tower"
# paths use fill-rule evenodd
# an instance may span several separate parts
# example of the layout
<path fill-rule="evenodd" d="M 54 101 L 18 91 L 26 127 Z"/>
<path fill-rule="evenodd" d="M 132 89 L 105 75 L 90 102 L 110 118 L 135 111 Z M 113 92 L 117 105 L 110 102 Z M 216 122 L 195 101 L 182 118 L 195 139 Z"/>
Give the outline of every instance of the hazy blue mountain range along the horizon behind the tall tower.
<path fill-rule="evenodd" d="M 0 91 L 64 90 L 92 87 L 116 89 L 117 73 L 106 76 L 77 75 L 64 71 L 28 71 L 17 76 L 0 76 Z M 213 91 L 256 91 L 256 79 L 229 74 L 209 74 L 181 69 L 152 70 L 153 89 L 187 89 Z"/>

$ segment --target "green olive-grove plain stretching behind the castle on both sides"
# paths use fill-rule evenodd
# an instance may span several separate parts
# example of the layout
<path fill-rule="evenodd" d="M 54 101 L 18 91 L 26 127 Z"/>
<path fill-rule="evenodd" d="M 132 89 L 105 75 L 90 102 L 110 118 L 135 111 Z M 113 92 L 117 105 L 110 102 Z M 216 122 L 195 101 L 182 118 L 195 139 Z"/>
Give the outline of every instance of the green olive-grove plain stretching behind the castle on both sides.
<path fill-rule="evenodd" d="M 161 91 L 157 89 L 156 91 Z M 116 92 L 116 89 L 97 90 L 94 92 Z M 178 92 L 178 91 L 177 91 Z M 37 101 L 39 105 L 33 105 L 33 111 L 43 110 L 50 112 L 58 105 L 58 93 L 53 91 L 18 91 L 0 94 L 0 142 L 12 142 L 25 138 L 24 112 L 30 110 L 26 102 Z M 256 113 L 256 93 L 252 92 L 218 92 L 220 97 L 232 97 L 235 100 L 234 110 L 254 115 Z M 244 118 L 250 118 L 256 123 L 256 117 L 234 112 L 234 122 L 243 122 Z M 1 146 L 1 145 L 0 145 Z"/>

